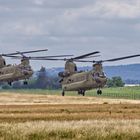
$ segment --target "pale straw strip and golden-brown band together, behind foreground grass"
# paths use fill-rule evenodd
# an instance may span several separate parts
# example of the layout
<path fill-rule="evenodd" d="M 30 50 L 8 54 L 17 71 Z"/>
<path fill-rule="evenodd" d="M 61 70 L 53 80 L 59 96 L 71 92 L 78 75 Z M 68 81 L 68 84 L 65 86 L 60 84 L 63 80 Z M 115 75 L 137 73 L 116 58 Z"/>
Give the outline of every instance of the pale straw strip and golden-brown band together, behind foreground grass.
<path fill-rule="evenodd" d="M 0 122 L 140 119 L 139 101 L 97 97 L 0 94 Z"/>

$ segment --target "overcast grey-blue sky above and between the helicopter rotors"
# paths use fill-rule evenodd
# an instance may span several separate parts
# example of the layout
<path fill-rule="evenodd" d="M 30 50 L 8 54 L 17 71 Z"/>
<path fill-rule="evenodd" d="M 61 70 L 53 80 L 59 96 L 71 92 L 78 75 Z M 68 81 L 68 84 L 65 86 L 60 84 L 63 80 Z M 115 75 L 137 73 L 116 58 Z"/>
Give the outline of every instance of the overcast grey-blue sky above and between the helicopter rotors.
<path fill-rule="evenodd" d="M 1 53 L 49 49 L 39 56 L 98 50 L 98 59 L 140 54 L 140 0 L 0 0 L 0 48 Z M 39 69 L 64 62 L 31 64 Z"/>

